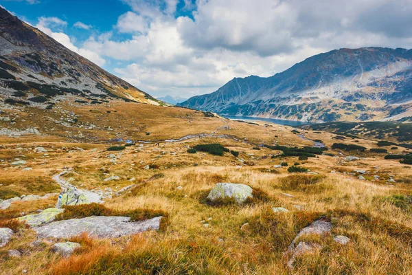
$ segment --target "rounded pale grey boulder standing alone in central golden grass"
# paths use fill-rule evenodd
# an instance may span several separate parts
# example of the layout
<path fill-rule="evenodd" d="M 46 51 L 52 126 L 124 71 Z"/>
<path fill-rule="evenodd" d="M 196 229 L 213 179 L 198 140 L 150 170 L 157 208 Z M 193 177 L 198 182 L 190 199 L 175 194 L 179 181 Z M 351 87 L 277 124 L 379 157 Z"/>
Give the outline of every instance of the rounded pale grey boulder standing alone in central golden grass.
<path fill-rule="evenodd" d="M 209 192 L 207 199 L 215 201 L 216 199 L 233 198 L 237 203 L 243 203 L 247 198 L 253 197 L 252 188 L 244 184 L 227 184 L 219 183 Z"/>

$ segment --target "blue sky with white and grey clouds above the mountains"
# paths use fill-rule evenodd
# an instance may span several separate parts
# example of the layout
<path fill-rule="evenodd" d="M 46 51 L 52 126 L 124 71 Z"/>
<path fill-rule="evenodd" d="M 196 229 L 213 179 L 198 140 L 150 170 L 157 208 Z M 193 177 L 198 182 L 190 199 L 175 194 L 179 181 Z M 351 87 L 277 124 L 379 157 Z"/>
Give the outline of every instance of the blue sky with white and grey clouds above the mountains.
<path fill-rule="evenodd" d="M 343 47 L 412 48 L 412 0 L 0 0 L 152 96 L 209 94 Z"/>

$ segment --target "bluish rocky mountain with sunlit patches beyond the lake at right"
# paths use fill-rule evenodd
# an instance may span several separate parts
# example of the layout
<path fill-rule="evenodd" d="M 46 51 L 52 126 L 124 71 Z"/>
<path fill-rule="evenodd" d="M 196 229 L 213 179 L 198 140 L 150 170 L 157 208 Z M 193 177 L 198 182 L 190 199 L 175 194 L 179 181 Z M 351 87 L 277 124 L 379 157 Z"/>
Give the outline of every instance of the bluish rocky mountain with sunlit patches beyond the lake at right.
<path fill-rule="evenodd" d="M 412 50 L 333 50 L 268 78 L 233 78 L 181 106 L 311 122 L 398 120 L 412 116 Z"/>

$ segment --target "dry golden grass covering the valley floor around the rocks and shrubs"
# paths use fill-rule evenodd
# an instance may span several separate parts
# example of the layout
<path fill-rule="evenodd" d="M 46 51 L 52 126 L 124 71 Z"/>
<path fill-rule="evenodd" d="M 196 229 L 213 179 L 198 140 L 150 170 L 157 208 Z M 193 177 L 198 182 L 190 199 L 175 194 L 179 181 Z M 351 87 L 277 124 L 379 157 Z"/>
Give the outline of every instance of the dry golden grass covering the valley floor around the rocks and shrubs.
<path fill-rule="evenodd" d="M 5 190 L 13 190 L 17 195 L 58 192 L 60 189 L 52 176 L 67 166 L 73 171 L 65 175 L 65 179 L 79 188 L 116 191 L 136 184 L 130 192 L 107 199 L 104 206 L 117 211 L 147 208 L 168 212 L 168 227 L 161 232 L 115 240 L 78 236 L 71 241 L 81 243 L 82 248 L 68 259 L 49 251 L 53 243 L 30 245 L 36 236 L 32 230 L 23 229 L 0 248 L 4 274 L 21 274 L 23 270 L 29 274 L 412 274 L 411 213 L 384 199 L 412 194 L 411 166 L 369 153 L 362 153 L 360 156 L 365 158 L 355 162 L 342 162 L 341 158 L 328 155 L 305 161 L 298 161 L 297 157 L 272 159 L 271 155 L 279 151 L 253 150 L 253 147 L 262 142 L 285 146 L 311 146 L 312 142 L 302 140 L 288 126 L 257 126 L 206 118 L 203 113 L 189 109 L 121 102 L 96 106 L 93 111 L 84 106 L 72 108 L 71 111 L 79 115 L 79 121 L 93 121 L 97 129 L 82 129 L 82 138 L 69 138 L 65 133 L 67 129 L 61 125 L 41 125 L 35 116 L 33 123 L 41 129 L 54 128 L 49 136 L 0 138 L 0 159 L 4 159 L 0 163 L 3 184 L 0 196 L 6 195 Z M 106 113 L 107 110 L 111 113 Z M 38 117 L 59 116 L 45 110 L 30 111 Z M 27 122 L 16 123 L 27 126 Z M 231 129 L 218 130 L 225 125 Z M 104 126 L 111 126 L 113 131 L 107 131 Z M 146 132 L 151 133 L 146 135 Z M 301 132 L 312 140 L 323 140 L 328 147 L 339 142 L 332 139 L 331 133 Z M 165 140 L 199 133 L 228 136 L 106 151 L 113 145 L 108 143 L 113 137 Z M 98 138 L 87 140 L 95 136 Z M 187 153 L 187 148 L 196 144 L 216 142 L 239 151 L 239 158 L 229 153 L 222 157 Z M 376 142 L 371 140 L 359 139 L 356 144 L 376 148 Z M 35 146 L 47 148 L 48 155 L 30 150 Z M 73 150 L 75 147 L 85 151 Z M 107 157 L 112 153 L 117 156 L 115 162 Z M 338 151 L 328 153 L 339 155 Z M 24 172 L 21 168 L 12 168 L 11 162 L 22 154 L 26 166 L 33 170 Z M 281 160 L 289 165 L 299 162 L 319 176 L 291 177 L 287 167 L 273 173 L 273 166 Z M 156 168 L 146 170 L 146 165 Z M 397 183 L 361 181 L 357 175 L 343 173 L 359 169 L 367 170 L 369 175 L 380 175 L 382 179 L 394 175 Z M 336 173 L 331 173 L 334 171 Z M 111 175 L 121 179 L 103 181 Z M 130 182 L 131 178 L 135 181 Z M 218 182 L 248 184 L 264 191 L 269 201 L 244 206 L 209 206 L 203 199 Z M 182 190 L 177 189 L 178 186 L 182 186 Z M 54 206 L 55 202 L 56 197 L 13 203 L 0 214 L 18 217 L 20 212 L 32 213 Z M 280 206 L 290 212 L 273 213 L 271 208 Z M 299 230 L 319 217 L 332 221 L 333 235 L 343 234 L 352 241 L 342 246 L 334 243 L 332 236 L 317 240 L 323 249 L 314 255 L 298 257 L 295 269 L 288 270 L 288 258 L 284 255 L 288 245 Z M 249 228 L 240 230 L 244 223 L 249 223 Z M 10 249 L 21 250 L 23 256 L 9 259 Z"/>

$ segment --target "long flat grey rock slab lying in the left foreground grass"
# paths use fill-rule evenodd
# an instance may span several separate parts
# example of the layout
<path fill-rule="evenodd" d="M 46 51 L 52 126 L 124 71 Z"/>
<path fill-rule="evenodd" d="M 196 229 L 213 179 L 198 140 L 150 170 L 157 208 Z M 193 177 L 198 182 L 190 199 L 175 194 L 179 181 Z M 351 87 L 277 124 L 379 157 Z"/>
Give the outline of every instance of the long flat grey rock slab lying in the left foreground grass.
<path fill-rule="evenodd" d="M 34 230 L 40 238 L 70 238 L 83 232 L 98 238 L 115 238 L 147 230 L 159 230 L 161 218 L 130 222 L 130 217 L 86 217 L 54 221 Z"/>

